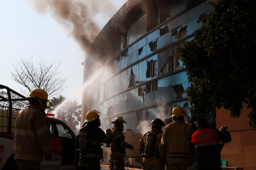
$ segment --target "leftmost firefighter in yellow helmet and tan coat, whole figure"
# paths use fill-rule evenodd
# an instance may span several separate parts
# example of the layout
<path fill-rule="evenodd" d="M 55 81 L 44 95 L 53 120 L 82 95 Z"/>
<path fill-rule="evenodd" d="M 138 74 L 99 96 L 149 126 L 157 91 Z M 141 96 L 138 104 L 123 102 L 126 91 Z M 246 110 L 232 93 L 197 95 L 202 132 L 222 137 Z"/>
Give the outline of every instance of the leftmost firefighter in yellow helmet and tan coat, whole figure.
<path fill-rule="evenodd" d="M 45 118 L 48 94 L 34 89 L 26 97 L 29 106 L 18 114 L 13 131 L 14 159 L 19 170 L 39 170 L 40 162 L 52 160 L 52 141 Z"/>

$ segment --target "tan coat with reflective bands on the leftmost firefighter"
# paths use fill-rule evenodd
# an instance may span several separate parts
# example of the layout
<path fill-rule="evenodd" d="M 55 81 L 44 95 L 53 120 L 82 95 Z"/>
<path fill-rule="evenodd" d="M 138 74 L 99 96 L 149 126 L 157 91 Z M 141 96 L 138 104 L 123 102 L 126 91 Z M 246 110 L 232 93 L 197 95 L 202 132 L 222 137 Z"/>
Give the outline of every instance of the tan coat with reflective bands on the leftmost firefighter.
<path fill-rule="evenodd" d="M 52 155 L 52 141 L 45 113 L 29 105 L 18 114 L 13 131 L 14 159 L 42 161 Z"/>

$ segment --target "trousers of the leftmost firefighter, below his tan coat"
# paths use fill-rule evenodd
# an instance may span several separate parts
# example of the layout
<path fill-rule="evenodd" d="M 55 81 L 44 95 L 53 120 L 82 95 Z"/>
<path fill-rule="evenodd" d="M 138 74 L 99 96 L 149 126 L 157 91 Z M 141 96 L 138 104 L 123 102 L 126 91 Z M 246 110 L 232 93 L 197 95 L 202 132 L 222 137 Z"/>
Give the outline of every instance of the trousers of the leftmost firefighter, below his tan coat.
<path fill-rule="evenodd" d="M 40 170 L 40 161 L 17 159 L 18 170 Z"/>

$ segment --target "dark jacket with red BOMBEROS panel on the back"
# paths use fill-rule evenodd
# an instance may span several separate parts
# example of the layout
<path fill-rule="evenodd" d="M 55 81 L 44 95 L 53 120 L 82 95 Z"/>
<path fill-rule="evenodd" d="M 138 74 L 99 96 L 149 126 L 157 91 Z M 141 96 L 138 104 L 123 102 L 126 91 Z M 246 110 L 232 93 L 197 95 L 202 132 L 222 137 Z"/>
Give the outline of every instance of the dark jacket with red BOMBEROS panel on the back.
<path fill-rule="evenodd" d="M 217 129 L 200 127 L 192 135 L 198 169 L 220 168 L 221 149 L 219 141 L 230 142 L 231 136 L 229 132 L 221 133 Z"/>

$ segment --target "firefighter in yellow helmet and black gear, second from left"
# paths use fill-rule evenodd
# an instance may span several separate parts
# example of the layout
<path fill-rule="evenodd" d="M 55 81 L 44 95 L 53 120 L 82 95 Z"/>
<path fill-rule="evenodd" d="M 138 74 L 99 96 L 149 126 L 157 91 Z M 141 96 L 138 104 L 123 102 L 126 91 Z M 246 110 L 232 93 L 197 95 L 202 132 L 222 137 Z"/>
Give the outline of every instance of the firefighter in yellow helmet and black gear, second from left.
<path fill-rule="evenodd" d="M 90 110 L 86 113 L 86 120 L 79 132 L 80 141 L 80 170 L 100 170 L 100 160 L 103 159 L 103 143 L 110 144 L 110 129 L 106 133 L 99 128 L 101 113 L 97 110 Z"/>

